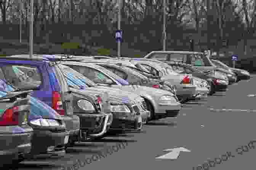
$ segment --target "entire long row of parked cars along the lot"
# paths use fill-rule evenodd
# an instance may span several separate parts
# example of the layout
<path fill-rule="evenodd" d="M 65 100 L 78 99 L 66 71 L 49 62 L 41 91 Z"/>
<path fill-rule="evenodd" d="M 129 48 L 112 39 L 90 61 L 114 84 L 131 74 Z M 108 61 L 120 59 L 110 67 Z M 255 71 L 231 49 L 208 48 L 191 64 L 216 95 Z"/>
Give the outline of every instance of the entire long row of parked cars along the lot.
<path fill-rule="evenodd" d="M 250 79 L 199 52 L 154 51 L 144 58 L 0 57 L 1 164 L 63 155 L 107 132 L 141 131 L 176 117 L 181 103 Z"/>

